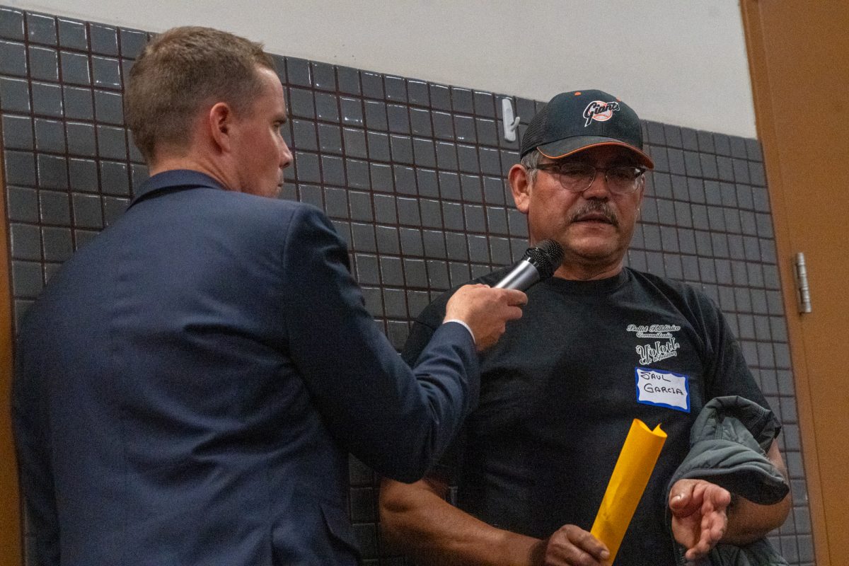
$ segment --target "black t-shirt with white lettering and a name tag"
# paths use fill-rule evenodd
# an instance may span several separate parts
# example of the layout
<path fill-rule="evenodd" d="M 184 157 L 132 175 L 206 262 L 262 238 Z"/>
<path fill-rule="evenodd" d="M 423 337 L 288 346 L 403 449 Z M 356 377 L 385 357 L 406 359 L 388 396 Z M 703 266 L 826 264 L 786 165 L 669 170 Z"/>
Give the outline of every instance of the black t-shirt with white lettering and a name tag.
<path fill-rule="evenodd" d="M 450 294 L 414 323 L 408 363 Z M 767 406 L 722 313 L 687 285 L 627 268 L 596 281 L 553 277 L 527 294 L 523 317 L 483 354 L 480 404 L 435 472 L 488 524 L 538 538 L 564 524 L 590 530 L 633 419 L 661 424 L 666 444 L 616 565 L 675 563 L 666 487 L 695 417 L 720 395 Z"/>

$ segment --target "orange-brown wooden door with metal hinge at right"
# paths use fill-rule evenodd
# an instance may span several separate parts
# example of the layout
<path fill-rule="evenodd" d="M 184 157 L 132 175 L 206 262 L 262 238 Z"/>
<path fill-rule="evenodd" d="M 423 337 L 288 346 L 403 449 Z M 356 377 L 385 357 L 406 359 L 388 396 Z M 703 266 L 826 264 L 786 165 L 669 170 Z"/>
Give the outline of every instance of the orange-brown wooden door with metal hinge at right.
<path fill-rule="evenodd" d="M 849 3 L 741 3 L 818 566 L 849 548 Z M 792 267 L 805 254 L 812 312 Z"/>

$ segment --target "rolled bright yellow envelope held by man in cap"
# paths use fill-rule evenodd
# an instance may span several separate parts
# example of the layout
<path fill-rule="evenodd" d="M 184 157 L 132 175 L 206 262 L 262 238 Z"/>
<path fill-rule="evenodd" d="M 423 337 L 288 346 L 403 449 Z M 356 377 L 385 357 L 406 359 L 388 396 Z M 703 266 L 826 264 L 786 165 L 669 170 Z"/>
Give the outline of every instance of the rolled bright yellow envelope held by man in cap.
<path fill-rule="evenodd" d="M 657 457 L 666 442 L 666 433 L 658 424 L 654 430 L 638 418 L 631 423 L 625 445 L 616 460 L 613 475 L 590 532 L 610 550 L 610 563 L 616 558 L 628 524 L 643 496 Z"/>

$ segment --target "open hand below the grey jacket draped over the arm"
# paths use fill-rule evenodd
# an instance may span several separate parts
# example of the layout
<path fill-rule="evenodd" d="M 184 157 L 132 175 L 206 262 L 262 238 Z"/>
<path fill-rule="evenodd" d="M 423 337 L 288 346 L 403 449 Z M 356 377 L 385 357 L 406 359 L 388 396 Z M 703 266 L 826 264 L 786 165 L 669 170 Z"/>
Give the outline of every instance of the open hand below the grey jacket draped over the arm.
<path fill-rule="evenodd" d="M 672 535 L 687 548 L 684 558 L 705 558 L 728 527 L 731 494 L 704 479 L 679 479 L 669 492 Z"/>

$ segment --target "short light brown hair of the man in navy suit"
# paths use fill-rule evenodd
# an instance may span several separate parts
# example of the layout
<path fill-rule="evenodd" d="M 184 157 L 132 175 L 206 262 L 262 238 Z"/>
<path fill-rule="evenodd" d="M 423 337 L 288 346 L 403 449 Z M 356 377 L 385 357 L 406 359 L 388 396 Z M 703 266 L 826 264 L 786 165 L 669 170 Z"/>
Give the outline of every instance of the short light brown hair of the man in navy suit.
<path fill-rule="evenodd" d="M 262 44 L 206 27 L 176 27 L 156 36 L 130 70 L 127 126 L 150 163 L 157 152 L 188 150 L 205 104 L 249 112 L 261 92 L 258 68 L 274 70 Z"/>

